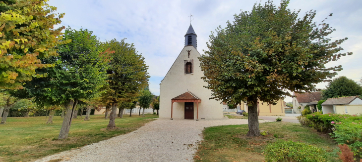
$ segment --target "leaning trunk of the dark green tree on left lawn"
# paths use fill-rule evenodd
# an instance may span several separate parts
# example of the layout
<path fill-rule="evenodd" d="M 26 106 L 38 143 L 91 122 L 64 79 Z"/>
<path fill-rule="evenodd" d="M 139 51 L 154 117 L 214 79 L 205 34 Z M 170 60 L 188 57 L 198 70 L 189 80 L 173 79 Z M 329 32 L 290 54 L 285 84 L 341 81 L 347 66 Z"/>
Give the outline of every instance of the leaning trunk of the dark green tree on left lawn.
<path fill-rule="evenodd" d="M 69 100 L 69 103 L 66 107 L 66 111 L 69 112 L 69 113 L 66 113 L 64 115 L 64 119 L 63 119 L 63 123 L 61 125 L 61 128 L 60 128 L 60 133 L 59 133 L 59 136 L 58 136 L 58 139 L 66 139 L 68 138 L 68 133 L 69 133 L 69 129 L 70 129 L 70 125 L 71 125 L 71 120 L 73 119 L 73 114 L 74 114 L 74 111 L 77 107 L 77 104 L 78 104 L 78 100 L 75 99 L 75 102 L 74 100 Z"/>

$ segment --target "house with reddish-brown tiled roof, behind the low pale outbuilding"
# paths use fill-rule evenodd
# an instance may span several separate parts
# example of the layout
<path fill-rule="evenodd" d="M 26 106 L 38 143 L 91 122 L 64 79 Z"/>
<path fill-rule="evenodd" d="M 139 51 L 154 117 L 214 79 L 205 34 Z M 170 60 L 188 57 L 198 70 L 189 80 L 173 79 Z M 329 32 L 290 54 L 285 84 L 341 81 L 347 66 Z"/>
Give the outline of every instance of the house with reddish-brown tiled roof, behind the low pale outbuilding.
<path fill-rule="evenodd" d="M 319 101 L 322 98 L 322 92 L 309 92 L 309 93 L 295 93 L 293 92 L 293 109 L 294 111 L 298 112 L 298 107 L 301 106 L 301 110 L 304 110 L 304 107 L 312 102 L 312 101 Z"/>

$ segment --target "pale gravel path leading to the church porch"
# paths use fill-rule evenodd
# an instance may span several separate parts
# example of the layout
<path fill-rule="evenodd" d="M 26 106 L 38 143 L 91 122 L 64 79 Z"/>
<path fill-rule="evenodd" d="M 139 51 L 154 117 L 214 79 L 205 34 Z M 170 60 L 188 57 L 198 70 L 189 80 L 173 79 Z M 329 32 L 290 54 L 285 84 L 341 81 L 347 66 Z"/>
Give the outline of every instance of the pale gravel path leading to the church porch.
<path fill-rule="evenodd" d="M 133 132 L 36 162 L 56 159 L 69 162 L 192 162 L 204 127 L 231 124 L 247 124 L 247 120 L 157 119 Z"/>

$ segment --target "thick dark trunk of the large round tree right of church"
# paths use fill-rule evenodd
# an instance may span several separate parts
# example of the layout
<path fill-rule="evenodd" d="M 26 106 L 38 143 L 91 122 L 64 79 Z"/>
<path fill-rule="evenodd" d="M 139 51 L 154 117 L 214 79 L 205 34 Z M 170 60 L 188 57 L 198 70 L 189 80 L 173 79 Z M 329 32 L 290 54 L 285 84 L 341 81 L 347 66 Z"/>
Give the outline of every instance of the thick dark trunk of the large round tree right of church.
<path fill-rule="evenodd" d="M 248 118 L 247 118 L 247 122 L 248 122 L 248 126 L 249 126 L 249 131 L 247 132 L 246 136 L 261 136 L 260 135 L 260 130 L 259 130 L 259 117 L 258 117 L 258 99 L 255 98 L 253 100 L 249 100 L 248 98 L 248 103 L 250 103 L 249 101 L 251 101 L 252 106 L 248 106 L 247 108 L 247 113 L 248 113 Z"/>

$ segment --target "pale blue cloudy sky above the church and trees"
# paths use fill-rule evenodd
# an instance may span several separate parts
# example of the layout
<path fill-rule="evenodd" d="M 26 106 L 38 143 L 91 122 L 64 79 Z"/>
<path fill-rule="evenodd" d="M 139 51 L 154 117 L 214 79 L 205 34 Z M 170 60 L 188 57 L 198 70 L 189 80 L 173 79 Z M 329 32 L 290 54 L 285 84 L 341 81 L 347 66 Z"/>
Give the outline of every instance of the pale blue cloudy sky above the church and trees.
<path fill-rule="evenodd" d="M 121 40 L 134 43 L 138 53 L 149 66 L 150 90 L 160 94 L 160 82 L 180 54 L 184 46 L 184 35 L 190 25 L 197 34 L 197 50 L 204 54 L 209 35 L 216 28 L 226 27 L 234 15 L 241 11 L 251 11 L 255 3 L 266 0 L 50 0 L 50 5 L 58 7 L 58 13 L 65 13 L 62 26 L 72 29 L 93 31 L 99 40 Z M 279 4 L 275 0 L 275 4 Z M 332 40 L 348 38 L 341 46 L 341 53 L 353 52 L 327 67 L 342 65 L 339 76 L 354 81 L 362 78 L 362 0 L 291 0 L 288 8 L 301 9 L 300 16 L 309 10 L 316 10 L 313 19 L 325 23 L 336 31 L 329 35 Z M 317 88 L 325 88 L 326 82 Z M 292 98 L 286 97 L 286 102 Z"/>

